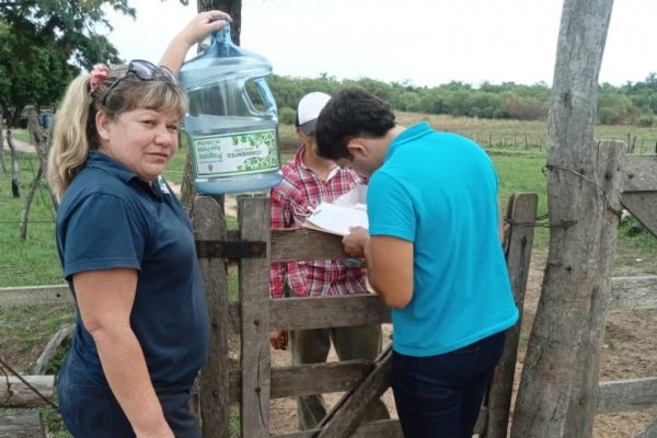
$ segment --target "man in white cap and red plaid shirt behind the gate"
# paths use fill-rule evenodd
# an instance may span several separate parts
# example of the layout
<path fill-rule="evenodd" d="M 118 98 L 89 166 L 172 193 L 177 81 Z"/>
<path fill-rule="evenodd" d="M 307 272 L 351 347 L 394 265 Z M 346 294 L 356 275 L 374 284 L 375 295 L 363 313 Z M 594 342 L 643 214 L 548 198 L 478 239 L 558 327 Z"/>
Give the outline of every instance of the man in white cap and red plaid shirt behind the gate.
<path fill-rule="evenodd" d="M 353 170 L 342 169 L 316 154 L 314 127 L 330 99 L 328 94 L 312 92 L 299 102 L 296 126 L 302 145 L 295 158 L 283 165 L 283 182 L 272 188 L 272 228 L 300 228 L 320 203 L 332 203 L 366 183 Z M 270 266 L 272 298 L 367 292 L 366 272 L 360 263 L 324 260 L 272 263 Z M 275 349 L 287 349 L 286 332 L 272 332 L 269 341 Z M 290 332 L 292 365 L 326 361 L 332 342 L 341 360 L 373 360 L 381 351 L 381 326 L 374 324 Z M 314 428 L 326 415 L 322 395 L 298 397 L 297 413 L 300 429 Z M 385 405 L 378 400 L 372 403 L 365 420 L 389 417 Z"/>

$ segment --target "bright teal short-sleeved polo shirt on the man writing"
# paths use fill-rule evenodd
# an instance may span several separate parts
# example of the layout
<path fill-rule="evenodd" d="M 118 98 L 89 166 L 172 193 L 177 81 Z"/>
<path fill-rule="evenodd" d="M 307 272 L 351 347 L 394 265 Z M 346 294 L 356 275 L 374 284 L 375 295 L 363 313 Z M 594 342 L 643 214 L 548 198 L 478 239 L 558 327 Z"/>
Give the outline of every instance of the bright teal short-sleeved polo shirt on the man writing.
<path fill-rule="evenodd" d="M 413 299 L 392 310 L 395 351 L 449 353 L 515 324 L 497 175 L 476 143 L 426 123 L 405 129 L 372 174 L 367 206 L 370 235 L 413 243 Z"/>

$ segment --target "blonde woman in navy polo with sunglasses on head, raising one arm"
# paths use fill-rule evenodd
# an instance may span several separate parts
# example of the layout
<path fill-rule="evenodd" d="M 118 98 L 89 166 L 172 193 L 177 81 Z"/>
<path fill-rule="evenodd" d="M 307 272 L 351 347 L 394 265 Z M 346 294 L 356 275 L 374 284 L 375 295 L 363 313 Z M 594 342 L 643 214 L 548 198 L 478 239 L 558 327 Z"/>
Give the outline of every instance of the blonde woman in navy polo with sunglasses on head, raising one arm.
<path fill-rule="evenodd" d="M 163 60 L 177 71 L 224 25 L 218 15 L 197 15 Z M 189 393 L 208 351 L 205 292 L 191 222 L 162 177 L 186 105 L 169 68 L 132 60 L 74 79 L 57 112 L 48 180 L 77 303 L 58 401 L 76 437 L 200 437 Z"/>

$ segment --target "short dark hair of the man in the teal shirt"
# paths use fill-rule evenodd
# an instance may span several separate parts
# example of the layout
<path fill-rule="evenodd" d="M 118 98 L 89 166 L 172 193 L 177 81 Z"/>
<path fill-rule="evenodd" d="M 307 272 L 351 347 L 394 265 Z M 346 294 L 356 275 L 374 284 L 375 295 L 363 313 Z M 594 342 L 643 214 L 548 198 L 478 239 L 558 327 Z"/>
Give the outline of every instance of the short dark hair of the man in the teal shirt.
<path fill-rule="evenodd" d="M 353 138 L 383 137 L 394 126 L 390 104 L 362 89 L 344 89 L 320 113 L 318 153 L 331 160 L 350 159 L 347 145 Z"/>

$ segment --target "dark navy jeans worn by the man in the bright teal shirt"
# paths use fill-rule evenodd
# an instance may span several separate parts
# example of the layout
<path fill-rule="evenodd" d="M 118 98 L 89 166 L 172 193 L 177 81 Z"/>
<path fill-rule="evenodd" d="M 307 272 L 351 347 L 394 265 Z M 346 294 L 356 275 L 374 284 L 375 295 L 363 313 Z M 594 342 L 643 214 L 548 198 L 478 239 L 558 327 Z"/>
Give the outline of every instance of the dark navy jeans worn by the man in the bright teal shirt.
<path fill-rule="evenodd" d="M 393 351 L 391 387 L 404 438 L 472 437 L 505 332 L 442 355 Z"/>

